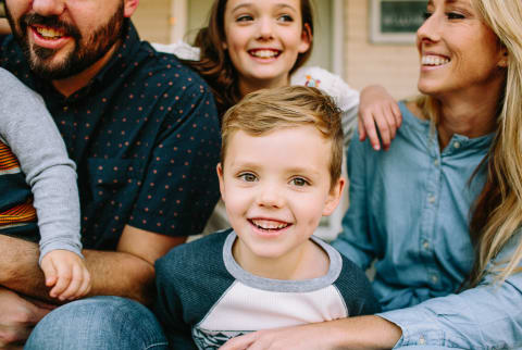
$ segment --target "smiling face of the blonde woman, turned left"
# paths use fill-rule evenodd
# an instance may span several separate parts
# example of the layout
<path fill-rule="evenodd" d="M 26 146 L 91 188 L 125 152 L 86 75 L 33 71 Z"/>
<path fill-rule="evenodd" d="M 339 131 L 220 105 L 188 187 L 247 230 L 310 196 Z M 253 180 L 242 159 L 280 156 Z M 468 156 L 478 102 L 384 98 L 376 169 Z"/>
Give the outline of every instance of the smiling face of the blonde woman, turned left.
<path fill-rule="evenodd" d="M 504 80 L 506 50 L 470 0 L 431 0 L 417 36 L 421 92 L 487 91 Z"/>

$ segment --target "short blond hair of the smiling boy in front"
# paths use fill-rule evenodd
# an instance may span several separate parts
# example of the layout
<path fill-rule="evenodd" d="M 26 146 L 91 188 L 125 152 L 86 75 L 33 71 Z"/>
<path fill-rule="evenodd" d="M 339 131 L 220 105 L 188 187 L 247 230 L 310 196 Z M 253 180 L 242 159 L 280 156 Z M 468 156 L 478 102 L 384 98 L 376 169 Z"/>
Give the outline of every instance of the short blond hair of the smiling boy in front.
<path fill-rule="evenodd" d="M 228 141 L 243 130 L 261 136 L 283 127 L 314 126 L 332 142 L 330 177 L 333 188 L 340 177 L 343 164 L 343 128 L 340 110 L 319 89 L 287 86 L 262 89 L 247 95 L 223 116 L 221 163 L 224 166 Z M 284 152 L 284 150 L 282 150 Z"/>

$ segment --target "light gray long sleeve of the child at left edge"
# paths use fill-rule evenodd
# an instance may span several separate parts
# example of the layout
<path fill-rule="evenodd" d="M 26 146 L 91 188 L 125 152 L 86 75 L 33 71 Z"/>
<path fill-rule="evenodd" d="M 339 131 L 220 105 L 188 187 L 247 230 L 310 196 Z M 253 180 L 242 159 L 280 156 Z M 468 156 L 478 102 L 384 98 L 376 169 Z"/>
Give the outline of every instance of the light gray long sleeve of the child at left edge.
<path fill-rule="evenodd" d="M 76 165 L 42 99 L 0 68 L 0 138 L 18 159 L 34 196 L 40 261 L 51 250 L 82 257 Z"/>

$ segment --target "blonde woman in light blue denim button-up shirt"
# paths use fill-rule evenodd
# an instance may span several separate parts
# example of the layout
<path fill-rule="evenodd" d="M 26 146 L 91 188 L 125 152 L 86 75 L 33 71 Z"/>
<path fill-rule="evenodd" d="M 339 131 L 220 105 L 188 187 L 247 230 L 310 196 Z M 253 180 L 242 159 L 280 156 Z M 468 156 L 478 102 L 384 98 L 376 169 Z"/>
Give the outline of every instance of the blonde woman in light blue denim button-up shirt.
<path fill-rule="evenodd" d="M 418 48 L 424 96 L 401 104 L 389 152 L 350 146 L 334 243 L 377 260 L 386 312 L 223 349 L 522 347 L 522 2 L 431 0 Z"/>

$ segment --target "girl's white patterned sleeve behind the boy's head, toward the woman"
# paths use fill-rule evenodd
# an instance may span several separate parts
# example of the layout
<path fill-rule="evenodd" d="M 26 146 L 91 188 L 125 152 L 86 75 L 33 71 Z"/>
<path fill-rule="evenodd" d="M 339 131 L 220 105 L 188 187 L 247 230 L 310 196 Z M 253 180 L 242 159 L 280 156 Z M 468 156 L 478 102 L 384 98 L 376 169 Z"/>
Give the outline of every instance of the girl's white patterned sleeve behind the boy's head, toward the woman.
<path fill-rule="evenodd" d="M 341 110 L 359 102 L 359 92 L 340 76 L 319 66 L 303 66 L 290 76 L 291 85 L 315 87 L 330 95 Z"/>

